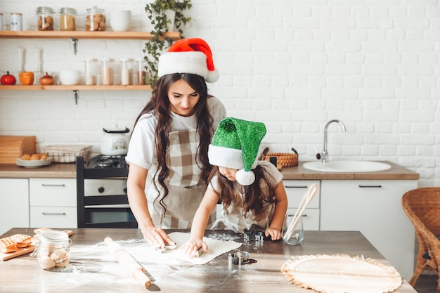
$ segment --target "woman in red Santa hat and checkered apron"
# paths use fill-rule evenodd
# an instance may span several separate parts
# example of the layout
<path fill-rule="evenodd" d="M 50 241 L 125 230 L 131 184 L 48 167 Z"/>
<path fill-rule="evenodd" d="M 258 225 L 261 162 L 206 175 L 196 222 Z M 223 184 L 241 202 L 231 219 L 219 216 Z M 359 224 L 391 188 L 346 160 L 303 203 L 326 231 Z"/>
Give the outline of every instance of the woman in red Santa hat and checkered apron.
<path fill-rule="evenodd" d="M 160 56 L 157 85 L 136 118 L 126 157 L 127 193 L 145 240 L 165 247 L 164 228 L 190 228 L 212 166 L 208 145 L 226 116 L 206 82 L 219 78 L 202 39 L 181 39 Z M 146 193 L 145 193 L 146 191 Z"/>

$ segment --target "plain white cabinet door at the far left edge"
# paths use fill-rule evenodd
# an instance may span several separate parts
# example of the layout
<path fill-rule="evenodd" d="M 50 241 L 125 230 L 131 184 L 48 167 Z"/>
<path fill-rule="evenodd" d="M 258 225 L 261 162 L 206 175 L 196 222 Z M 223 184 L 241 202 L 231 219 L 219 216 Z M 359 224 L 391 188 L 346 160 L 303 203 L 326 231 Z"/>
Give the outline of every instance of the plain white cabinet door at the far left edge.
<path fill-rule="evenodd" d="M 0 233 L 29 228 L 29 179 L 0 178 Z"/>

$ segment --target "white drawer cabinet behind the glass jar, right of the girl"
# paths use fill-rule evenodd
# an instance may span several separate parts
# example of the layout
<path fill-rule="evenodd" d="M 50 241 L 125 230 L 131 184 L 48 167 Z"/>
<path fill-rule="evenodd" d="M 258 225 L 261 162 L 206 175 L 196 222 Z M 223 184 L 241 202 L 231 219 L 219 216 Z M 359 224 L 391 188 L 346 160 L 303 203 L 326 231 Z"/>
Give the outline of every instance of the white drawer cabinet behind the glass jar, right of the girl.
<path fill-rule="evenodd" d="M 318 180 L 283 180 L 285 192 L 287 194 L 287 214 L 295 214 L 299 203 L 302 200 L 304 193 L 307 188 L 309 188 L 313 183 L 318 184 L 318 191 L 315 197 L 309 203 L 309 205 L 304 210 L 302 216 L 302 223 L 304 230 L 319 230 L 319 214 L 320 214 L 320 204 L 319 204 L 319 193 L 320 193 L 320 181 Z"/>

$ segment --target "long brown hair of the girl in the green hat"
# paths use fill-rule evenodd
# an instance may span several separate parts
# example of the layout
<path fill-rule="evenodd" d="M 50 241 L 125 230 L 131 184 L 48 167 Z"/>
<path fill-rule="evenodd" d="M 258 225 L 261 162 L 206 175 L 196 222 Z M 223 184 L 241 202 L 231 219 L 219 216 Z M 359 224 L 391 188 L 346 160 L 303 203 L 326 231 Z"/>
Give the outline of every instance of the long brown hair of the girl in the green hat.
<path fill-rule="evenodd" d="M 267 180 L 268 172 L 263 167 L 257 166 L 255 169 L 252 169 L 252 171 L 255 174 L 254 183 L 248 186 L 242 186 L 243 190 L 240 190 L 240 192 L 244 191 L 243 194 L 245 194 L 242 212 L 246 216 L 249 211 L 252 211 L 255 219 L 259 220 L 261 217 L 266 216 L 264 204 L 266 202 L 275 202 L 276 185 L 273 185 L 271 181 Z M 209 174 L 209 181 L 212 180 L 215 175 L 218 175 L 217 194 L 226 209 L 231 203 L 235 202 L 236 193 L 234 183 L 221 175 L 219 167 L 217 166 L 212 167 L 211 174 Z M 262 188 L 264 188 L 264 190 Z"/>

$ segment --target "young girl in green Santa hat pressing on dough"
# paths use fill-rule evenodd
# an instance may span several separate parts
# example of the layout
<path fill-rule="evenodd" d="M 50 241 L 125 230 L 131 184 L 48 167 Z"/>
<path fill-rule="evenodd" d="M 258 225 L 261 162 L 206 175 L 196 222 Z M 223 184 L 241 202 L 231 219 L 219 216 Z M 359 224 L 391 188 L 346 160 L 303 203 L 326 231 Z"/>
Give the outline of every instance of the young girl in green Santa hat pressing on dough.
<path fill-rule="evenodd" d="M 212 229 L 228 229 L 236 233 L 262 230 L 272 240 L 281 238 L 287 195 L 281 183 L 283 175 L 266 161 L 257 158 L 266 126 L 228 117 L 217 128 L 209 145 L 209 163 L 214 168 L 209 185 L 193 219 L 190 240 L 183 245 L 192 255 L 203 247 L 203 235 L 209 215 L 221 200 L 221 218 Z"/>

